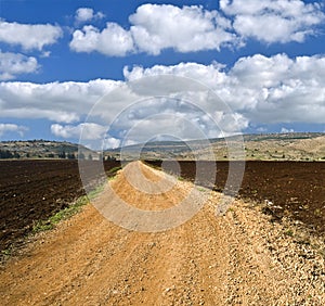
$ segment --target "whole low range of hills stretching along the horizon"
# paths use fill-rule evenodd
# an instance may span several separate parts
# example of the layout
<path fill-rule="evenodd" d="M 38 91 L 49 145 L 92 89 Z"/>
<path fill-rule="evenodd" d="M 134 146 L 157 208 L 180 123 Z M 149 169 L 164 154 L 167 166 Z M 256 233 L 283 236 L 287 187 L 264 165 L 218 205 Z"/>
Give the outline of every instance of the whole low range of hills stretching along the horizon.
<path fill-rule="evenodd" d="M 227 144 L 240 144 L 237 136 L 210 140 L 154 141 L 104 152 L 105 158 L 123 160 L 199 160 L 226 161 Z M 243 153 L 250 161 L 325 161 L 325 133 L 289 132 L 244 135 Z M 82 148 L 84 158 L 101 158 L 98 152 Z M 212 149 L 213 155 L 210 154 Z M 122 151 L 122 154 L 120 155 Z M 140 153 L 139 153 L 140 152 Z M 90 156 L 91 155 L 91 156 Z M 77 158 L 78 144 L 66 141 L 2 141 L 0 158 Z M 236 157 L 235 157 L 236 158 Z"/>

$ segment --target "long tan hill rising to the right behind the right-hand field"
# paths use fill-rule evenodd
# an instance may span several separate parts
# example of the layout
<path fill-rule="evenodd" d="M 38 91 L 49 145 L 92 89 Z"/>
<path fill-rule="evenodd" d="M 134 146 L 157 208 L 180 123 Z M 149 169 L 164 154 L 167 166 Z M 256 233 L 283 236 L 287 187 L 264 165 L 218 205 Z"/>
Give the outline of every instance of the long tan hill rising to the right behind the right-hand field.
<path fill-rule="evenodd" d="M 134 144 L 106 153 L 117 156 L 122 151 L 122 158 L 143 160 L 210 160 L 212 148 L 214 160 L 229 160 L 226 144 L 239 144 L 237 136 L 210 139 L 209 141 L 155 141 L 145 144 Z M 268 135 L 244 135 L 244 153 L 246 160 L 264 161 L 325 161 L 325 133 L 322 132 L 289 132 Z"/>

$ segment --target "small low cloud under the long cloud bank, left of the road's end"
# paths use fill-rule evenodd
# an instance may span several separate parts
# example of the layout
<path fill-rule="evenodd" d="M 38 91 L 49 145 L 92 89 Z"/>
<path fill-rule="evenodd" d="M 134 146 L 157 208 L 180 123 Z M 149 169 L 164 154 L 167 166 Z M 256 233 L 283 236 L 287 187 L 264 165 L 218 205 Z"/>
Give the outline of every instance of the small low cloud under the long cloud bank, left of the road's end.
<path fill-rule="evenodd" d="M 95 123 L 84 123 L 77 126 L 72 125 L 51 125 L 51 132 L 62 138 L 79 138 L 82 133 L 83 140 L 98 140 L 103 139 L 106 127 Z"/>

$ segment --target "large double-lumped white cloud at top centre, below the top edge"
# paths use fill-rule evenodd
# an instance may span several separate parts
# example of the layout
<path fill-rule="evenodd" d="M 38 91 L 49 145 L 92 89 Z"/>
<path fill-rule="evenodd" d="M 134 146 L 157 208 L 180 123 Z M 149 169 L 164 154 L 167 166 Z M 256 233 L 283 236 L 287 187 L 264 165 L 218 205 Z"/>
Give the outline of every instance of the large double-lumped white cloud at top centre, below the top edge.
<path fill-rule="evenodd" d="M 236 35 L 230 31 L 231 23 L 217 11 L 202 7 L 143 4 L 129 20 L 130 29 L 116 23 L 107 23 L 103 30 L 94 26 L 77 29 L 70 48 L 123 56 L 130 52 L 157 55 L 168 48 L 179 52 L 219 50 L 238 43 Z"/>

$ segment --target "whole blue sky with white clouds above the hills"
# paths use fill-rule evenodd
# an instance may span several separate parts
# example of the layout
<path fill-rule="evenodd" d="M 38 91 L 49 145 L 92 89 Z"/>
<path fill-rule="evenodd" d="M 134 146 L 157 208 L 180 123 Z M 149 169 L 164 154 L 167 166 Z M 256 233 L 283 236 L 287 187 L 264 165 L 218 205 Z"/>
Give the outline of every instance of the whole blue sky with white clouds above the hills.
<path fill-rule="evenodd" d="M 0 0 L 0 140 L 325 131 L 325 2 Z"/>

